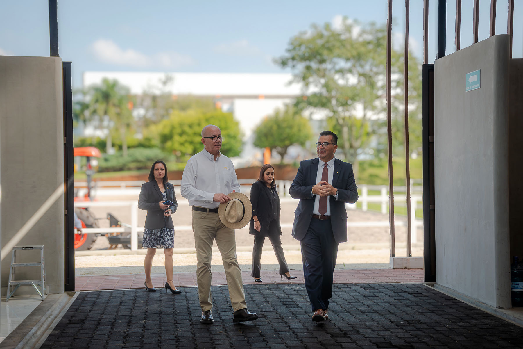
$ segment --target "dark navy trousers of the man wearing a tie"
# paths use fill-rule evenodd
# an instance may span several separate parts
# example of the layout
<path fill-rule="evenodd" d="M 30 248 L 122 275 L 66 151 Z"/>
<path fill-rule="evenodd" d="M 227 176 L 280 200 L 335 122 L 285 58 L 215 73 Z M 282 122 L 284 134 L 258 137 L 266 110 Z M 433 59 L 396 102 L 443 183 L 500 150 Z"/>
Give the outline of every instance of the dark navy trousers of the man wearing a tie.
<path fill-rule="evenodd" d="M 312 311 L 328 309 L 338 243 L 334 240 L 331 220 L 312 218 L 305 237 L 300 240 L 305 289 Z"/>

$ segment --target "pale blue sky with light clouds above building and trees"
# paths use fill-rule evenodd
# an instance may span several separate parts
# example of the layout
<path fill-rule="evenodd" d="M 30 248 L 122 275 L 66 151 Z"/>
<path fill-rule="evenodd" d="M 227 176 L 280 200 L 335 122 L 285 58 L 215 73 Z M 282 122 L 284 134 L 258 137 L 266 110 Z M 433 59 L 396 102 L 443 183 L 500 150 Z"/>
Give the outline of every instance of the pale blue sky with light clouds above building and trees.
<path fill-rule="evenodd" d="M 480 1 L 479 40 L 488 38 L 490 1 Z M 523 57 L 523 1 L 515 2 L 513 57 Z M 321 4 L 321 5 L 320 5 Z M 472 44 L 473 0 L 462 1 L 461 48 Z M 410 47 L 423 59 L 423 1 L 410 2 Z M 507 31 L 508 2 L 497 2 L 496 33 Z M 281 73 L 273 59 L 312 24 L 384 24 L 386 0 L 123 1 L 58 0 L 60 57 L 84 71 Z M 437 1 L 429 2 L 428 63 L 436 56 Z M 447 1 L 447 54 L 454 46 L 456 0 Z M 405 3 L 393 2 L 393 45 L 404 41 Z M 0 54 L 49 56 L 45 0 L 0 1 Z"/>

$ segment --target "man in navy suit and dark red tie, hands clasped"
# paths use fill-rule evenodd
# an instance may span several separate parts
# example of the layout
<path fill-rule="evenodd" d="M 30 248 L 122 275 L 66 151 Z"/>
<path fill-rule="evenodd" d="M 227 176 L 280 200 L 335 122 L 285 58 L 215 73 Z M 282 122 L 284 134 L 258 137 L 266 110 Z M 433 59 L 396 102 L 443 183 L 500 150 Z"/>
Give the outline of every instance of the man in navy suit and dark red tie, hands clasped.
<path fill-rule="evenodd" d="M 291 197 L 300 199 L 292 236 L 300 240 L 305 288 L 316 322 L 328 319 L 338 244 L 347 241 L 345 202 L 358 200 L 353 165 L 334 157 L 337 143 L 336 133 L 321 132 L 318 157 L 300 163 L 289 189 Z"/>

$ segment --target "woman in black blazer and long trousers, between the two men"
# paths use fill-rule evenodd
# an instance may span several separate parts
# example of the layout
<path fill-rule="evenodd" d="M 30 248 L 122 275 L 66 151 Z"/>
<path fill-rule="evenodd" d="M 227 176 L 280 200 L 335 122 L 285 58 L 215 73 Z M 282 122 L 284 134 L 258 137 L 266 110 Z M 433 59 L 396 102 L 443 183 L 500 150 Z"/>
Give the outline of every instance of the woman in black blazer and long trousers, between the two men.
<path fill-rule="evenodd" d="M 283 280 L 283 276 L 288 280 L 295 279 L 295 276 L 289 274 L 289 267 L 281 248 L 280 198 L 274 183 L 274 167 L 271 164 L 261 166 L 258 181 L 251 187 L 251 202 L 253 218 L 249 226 L 249 234 L 254 235 L 253 271 L 251 273 L 254 281 L 261 283 L 261 248 L 266 237 L 269 238 L 280 264 L 281 279 Z"/>

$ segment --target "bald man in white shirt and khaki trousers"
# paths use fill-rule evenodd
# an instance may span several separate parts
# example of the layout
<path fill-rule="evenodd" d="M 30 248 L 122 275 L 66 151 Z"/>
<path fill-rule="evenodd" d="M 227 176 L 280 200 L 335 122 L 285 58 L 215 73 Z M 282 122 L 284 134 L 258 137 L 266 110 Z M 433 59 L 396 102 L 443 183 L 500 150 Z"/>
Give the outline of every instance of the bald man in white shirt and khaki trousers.
<path fill-rule="evenodd" d="M 207 125 L 201 131 L 203 150 L 191 156 L 181 177 L 181 196 L 192 206 L 192 231 L 195 234 L 197 257 L 196 279 L 200 299 L 201 323 L 211 324 L 211 255 L 212 242 L 216 240 L 222 255 L 223 267 L 229 287 L 233 321 L 253 321 L 256 313 L 247 310 L 242 285 L 242 271 L 236 260 L 234 229 L 225 227 L 218 215 L 218 206 L 231 200 L 225 193 L 240 192 L 240 184 L 229 157 L 220 153 L 222 133 L 220 128 Z"/>

